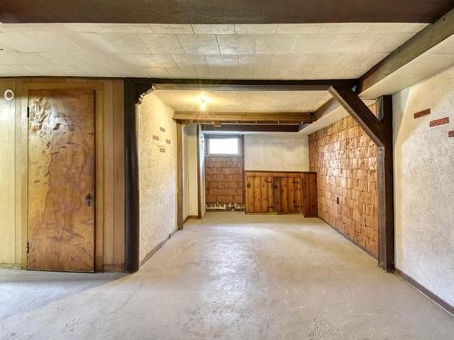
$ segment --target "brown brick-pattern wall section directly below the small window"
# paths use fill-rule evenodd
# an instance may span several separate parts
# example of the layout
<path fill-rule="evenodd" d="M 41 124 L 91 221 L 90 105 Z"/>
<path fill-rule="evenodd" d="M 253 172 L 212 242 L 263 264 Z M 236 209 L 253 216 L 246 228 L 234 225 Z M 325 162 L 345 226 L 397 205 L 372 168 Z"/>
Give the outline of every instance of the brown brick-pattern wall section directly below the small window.
<path fill-rule="evenodd" d="M 207 156 L 206 203 L 243 203 L 242 156 Z"/>

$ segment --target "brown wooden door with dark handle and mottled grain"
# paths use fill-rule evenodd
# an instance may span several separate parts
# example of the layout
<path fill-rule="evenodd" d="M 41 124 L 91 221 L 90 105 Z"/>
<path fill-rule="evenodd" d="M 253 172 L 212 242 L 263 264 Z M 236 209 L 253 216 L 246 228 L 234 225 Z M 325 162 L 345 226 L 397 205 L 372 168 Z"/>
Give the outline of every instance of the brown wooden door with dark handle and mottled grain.
<path fill-rule="evenodd" d="M 28 268 L 94 271 L 94 91 L 30 91 Z"/>

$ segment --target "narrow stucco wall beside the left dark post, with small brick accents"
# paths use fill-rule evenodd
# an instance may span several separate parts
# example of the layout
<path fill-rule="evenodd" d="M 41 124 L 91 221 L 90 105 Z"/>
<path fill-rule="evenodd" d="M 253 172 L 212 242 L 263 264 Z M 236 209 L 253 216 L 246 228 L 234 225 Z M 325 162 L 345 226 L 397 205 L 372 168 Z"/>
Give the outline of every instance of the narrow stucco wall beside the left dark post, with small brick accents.
<path fill-rule="evenodd" d="M 141 261 L 176 228 L 176 124 L 172 117 L 173 110 L 153 93 L 143 98 L 137 110 Z"/>

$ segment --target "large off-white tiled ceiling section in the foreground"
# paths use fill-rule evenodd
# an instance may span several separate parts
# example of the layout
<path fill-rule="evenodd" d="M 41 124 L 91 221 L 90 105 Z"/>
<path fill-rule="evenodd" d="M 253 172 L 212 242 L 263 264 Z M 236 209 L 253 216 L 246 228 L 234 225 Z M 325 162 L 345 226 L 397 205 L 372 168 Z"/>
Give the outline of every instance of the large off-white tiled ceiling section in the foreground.
<path fill-rule="evenodd" d="M 357 78 L 426 24 L 0 24 L 0 76 Z"/>

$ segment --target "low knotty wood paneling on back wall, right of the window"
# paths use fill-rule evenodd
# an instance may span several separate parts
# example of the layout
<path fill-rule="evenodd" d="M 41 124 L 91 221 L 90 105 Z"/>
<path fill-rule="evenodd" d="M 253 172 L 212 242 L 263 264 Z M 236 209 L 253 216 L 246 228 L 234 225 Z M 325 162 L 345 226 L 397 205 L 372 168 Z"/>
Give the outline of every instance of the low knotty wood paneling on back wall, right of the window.
<path fill-rule="evenodd" d="M 245 171 L 246 212 L 302 212 L 302 175 L 306 172 Z M 316 174 L 311 174 L 316 178 Z M 309 189 L 309 187 L 308 187 Z M 317 199 L 311 196 L 311 199 Z M 307 199 L 311 203 L 310 199 Z M 311 203 L 317 205 L 317 201 Z M 313 212 L 317 216 L 317 212 Z"/>

